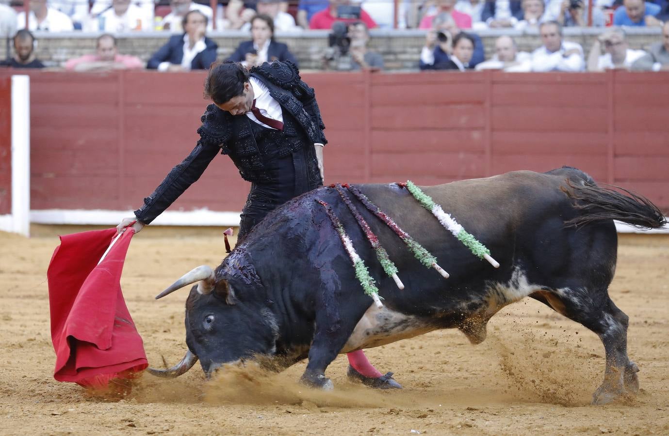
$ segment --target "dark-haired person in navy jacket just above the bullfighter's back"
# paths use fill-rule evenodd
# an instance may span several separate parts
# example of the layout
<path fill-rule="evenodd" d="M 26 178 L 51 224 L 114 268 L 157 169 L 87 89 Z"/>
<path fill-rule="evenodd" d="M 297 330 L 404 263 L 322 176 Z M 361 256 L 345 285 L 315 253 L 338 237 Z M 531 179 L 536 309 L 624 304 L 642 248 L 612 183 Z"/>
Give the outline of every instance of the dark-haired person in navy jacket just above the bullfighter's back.
<path fill-rule="evenodd" d="M 251 19 L 251 38 L 251 41 L 241 42 L 228 60 L 241 62 L 247 68 L 273 61 L 291 61 L 297 65 L 288 45 L 274 41 L 274 20 L 269 15 L 256 15 Z"/>

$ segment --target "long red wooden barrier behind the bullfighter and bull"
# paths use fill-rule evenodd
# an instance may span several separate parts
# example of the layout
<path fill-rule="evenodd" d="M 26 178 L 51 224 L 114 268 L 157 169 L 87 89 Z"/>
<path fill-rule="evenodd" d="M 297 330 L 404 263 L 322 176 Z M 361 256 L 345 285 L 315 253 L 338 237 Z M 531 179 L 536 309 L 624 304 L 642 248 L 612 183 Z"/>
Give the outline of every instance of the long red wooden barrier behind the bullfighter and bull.
<path fill-rule="evenodd" d="M 32 209 L 136 208 L 197 141 L 201 73 L 31 74 Z M 314 73 L 326 182 L 563 165 L 669 209 L 669 73 Z M 241 210 L 226 156 L 172 210 Z"/>

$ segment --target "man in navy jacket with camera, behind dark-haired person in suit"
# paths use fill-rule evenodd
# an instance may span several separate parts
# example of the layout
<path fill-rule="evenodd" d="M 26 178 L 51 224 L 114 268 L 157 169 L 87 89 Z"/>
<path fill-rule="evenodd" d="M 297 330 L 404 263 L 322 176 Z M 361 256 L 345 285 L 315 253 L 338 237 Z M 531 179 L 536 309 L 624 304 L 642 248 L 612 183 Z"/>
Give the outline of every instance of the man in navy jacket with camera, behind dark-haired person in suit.
<path fill-rule="evenodd" d="M 421 50 L 418 66 L 420 69 L 452 69 L 453 39 L 454 35 L 461 33 L 460 28 L 448 13 L 434 17 L 432 25 L 433 28 L 425 35 L 425 45 Z M 467 36 L 474 41 L 472 56 L 468 60 L 468 68 L 473 68 L 484 61 L 483 42 L 475 33 L 468 33 Z"/>

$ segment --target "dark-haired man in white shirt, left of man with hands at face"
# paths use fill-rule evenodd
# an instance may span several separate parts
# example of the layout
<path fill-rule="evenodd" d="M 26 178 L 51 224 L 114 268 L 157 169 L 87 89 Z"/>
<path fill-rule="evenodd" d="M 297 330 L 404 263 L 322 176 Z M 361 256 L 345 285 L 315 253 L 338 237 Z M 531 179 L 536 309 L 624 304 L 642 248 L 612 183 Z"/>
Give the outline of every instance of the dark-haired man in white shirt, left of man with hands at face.
<path fill-rule="evenodd" d="M 532 71 L 583 71 L 583 48 L 562 39 L 562 27 L 557 21 L 539 26 L 544 45 L 532 52 Z"/>

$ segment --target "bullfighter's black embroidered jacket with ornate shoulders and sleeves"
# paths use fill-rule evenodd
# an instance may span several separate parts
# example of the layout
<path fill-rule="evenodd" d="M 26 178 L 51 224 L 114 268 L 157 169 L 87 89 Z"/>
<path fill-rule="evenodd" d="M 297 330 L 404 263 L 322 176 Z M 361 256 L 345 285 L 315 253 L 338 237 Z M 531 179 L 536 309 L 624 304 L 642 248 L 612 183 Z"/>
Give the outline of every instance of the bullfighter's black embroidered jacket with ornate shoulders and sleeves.
<path fill-rule="evenodd" d="M 279 156 L 305 146 L 312 148 L 316 143 L 327 143 L 314 89 L 302 81 L 294 64 L 290 61 L 264 63 L 252 68 L 251 75 L 268 87 L 272 98 L 282 107 L 284 130 L 282 140 L 276 142 Z M 201 122 L 197 130 L 200 140 L 191 154 L 172 168 L 153 194 L 144 199 L 144 206 L 134 212 L 141 222 L 149 224 L 167 209 L 200 178 L 219 152 L 230 156 L 244 180 L 272 183 L 264 168 L 262 147 L 256 143 L 249 124 L 252 121 L 247 116 L 232 116 L 211 104 Z"/>

